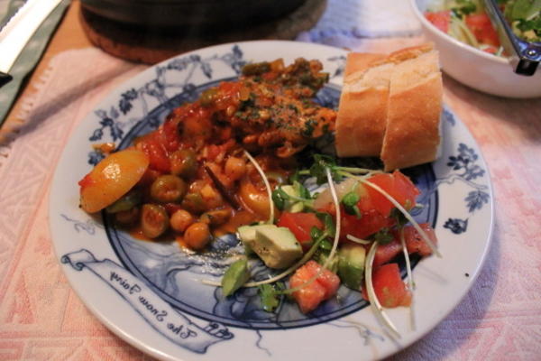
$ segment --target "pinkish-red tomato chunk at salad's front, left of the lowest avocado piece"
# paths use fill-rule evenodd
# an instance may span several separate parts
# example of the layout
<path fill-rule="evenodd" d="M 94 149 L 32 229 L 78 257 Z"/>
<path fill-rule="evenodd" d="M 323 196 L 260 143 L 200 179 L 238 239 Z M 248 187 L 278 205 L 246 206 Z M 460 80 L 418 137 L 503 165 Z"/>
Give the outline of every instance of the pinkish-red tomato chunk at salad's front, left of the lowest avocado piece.
<path fill-rule="evenodd" d="M 303 313 L 316 310 L 319 303 L 333 297 L 340 286 L 340 278 L 327 269 L 315 281 L 307 283 L 320 269 L 321 265 L 316 261 L 308 261 L 289 278 L 290 288 L 302 287 L 292 296 Z"/>

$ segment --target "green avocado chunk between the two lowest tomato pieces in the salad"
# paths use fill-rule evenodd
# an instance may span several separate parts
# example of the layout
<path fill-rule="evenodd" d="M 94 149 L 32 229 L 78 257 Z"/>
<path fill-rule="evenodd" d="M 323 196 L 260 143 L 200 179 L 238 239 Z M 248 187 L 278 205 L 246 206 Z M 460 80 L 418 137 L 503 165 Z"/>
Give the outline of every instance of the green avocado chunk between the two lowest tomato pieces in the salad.
<path fill-rule="evenodd" d="M 344 285 L 359 290 L 364 277 L 366 249 L 362 245 L 346 244 L 338 251 L 338 277 Z"/>

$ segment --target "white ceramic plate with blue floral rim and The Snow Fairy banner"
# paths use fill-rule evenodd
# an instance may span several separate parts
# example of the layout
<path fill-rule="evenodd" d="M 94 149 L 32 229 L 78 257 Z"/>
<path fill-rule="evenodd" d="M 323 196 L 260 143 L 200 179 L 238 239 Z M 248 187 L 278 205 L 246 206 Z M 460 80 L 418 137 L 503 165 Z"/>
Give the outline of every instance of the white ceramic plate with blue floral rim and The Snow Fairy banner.
<path fill-rule="evenodd" d="M 161 359 L 341 360 L 374 359 L 407 347 L 445 318 L 468 291 L 491 239 L 489 172 L 465 126 L 445 109 L 443 155 L 408 174 L 425 205 L 416 216 L 436 228 L 443 258 L 421 260 L 411 329 L 409 310 L 388 313 L 401 338 L 391 339 L 371 308 L 344 287 L 337 298 L 302 315 L 282 301 L 261 311 L 254 290 L 224 300 L 201 284 L 219 279 L 234 249 L 233 237 L 215 242 L 208 255 L 189 256 L 174 243 L 130 238 L 106 217 L 78 208 L 78 180 L 99 160 L 91 144 L 124 147 L 149 132 L 174 106 L 194 99 L 220 79 L 231 79 L 247 61 L 318 59 L 331 75 L 318 98 L 336 106 L 346 52 L 302 42 L 241 42 L 166 60 L 124 83 L 89 114 L 72 135 L 50 193 L 52 239 L 73 289 L 98 319 L 134 347 Z"/>

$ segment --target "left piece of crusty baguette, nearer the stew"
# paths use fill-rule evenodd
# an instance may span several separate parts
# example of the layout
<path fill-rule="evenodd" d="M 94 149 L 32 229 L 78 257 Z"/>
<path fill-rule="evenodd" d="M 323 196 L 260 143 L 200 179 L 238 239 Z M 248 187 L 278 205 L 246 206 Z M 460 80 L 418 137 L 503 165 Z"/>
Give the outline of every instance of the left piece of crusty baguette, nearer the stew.
<path fill-rule="evenodd" d="M 379 156 L 392 64 L 382 54 L 350 53 L 336 117 L 339 157 Z"/>

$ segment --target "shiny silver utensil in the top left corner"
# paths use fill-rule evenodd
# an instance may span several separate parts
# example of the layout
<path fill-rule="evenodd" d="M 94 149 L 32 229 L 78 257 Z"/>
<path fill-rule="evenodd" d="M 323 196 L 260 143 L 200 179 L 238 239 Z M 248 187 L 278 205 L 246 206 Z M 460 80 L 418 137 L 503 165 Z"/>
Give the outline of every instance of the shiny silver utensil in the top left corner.
<path fill-rule="evenodd" d="M 62 0 L 28 0 L 0 31 L 0 87 L 9 75 L 24 46 Z"/>

